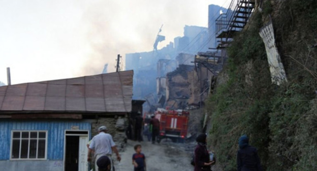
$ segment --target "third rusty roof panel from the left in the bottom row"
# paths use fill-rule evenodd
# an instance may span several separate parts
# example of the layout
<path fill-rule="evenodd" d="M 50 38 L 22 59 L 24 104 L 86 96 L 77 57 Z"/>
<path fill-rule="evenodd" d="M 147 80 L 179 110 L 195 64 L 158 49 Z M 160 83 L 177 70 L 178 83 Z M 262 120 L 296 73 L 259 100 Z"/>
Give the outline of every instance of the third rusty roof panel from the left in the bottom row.
<path fill-rule="evenodd" d="M 65 111 L 65 97 L 46 97 L 44 110 Z"/>

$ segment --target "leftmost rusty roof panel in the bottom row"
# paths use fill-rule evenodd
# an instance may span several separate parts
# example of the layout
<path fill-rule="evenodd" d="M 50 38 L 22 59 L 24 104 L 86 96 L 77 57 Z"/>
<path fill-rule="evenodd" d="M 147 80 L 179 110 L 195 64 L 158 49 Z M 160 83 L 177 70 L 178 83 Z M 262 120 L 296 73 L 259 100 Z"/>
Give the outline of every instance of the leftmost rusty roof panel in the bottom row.
<path fill-rule="evenodd" d="M 22 110 L 24 96 L 5 96 L 1 110 Z"/>

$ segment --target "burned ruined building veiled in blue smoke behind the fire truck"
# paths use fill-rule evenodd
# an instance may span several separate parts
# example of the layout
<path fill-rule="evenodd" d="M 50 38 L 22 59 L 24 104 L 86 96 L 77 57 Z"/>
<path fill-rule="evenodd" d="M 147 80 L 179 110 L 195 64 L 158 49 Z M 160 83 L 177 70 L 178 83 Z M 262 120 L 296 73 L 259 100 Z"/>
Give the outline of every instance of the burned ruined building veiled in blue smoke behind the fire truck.
<path fill-rule="evenodd" d="M 166 75 L 182 64 L 193 67 L 194 54 L 208 41 L 206 27 L 185 25 L 184 36 L 176 37 L 174 43 L 162 49 L 126 54 L 125 68 L 135 71 L 133 98 L 151 99 L 146 100 L 144 105 L 148 111 L 165 107 L 168 94 Z"/>

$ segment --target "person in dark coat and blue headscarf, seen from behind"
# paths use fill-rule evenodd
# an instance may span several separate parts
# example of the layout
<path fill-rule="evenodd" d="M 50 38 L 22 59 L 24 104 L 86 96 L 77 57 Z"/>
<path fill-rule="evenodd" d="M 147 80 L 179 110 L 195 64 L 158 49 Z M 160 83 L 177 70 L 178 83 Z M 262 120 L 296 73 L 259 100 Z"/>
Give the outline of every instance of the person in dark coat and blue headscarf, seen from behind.
<path fill-rule="evenodd" d="M 249 138 L 242 135 L 239 138 L 237 152 L 238 171 L 262 171 L 258 149 L 249 145 Z"/>

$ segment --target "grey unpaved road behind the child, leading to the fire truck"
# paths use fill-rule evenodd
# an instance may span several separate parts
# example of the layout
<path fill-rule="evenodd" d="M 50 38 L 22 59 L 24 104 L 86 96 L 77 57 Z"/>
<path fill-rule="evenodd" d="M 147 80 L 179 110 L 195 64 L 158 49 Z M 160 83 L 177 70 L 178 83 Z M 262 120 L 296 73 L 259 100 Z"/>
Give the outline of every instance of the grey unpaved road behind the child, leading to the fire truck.
<path fill-rule="evenodd" d="M 121 161 L 115 162 L 116 171 L 134 170 L 132 165 L 132 155 L 135 153 L 134 146 L 141 144 L 142 153 L 145 155 L 147 171 L 193 171 L 194 166 L 190 164 L 190 155 L 177 146 L 182 144 L 169 144 L 161 142 L 161 144 L 152 145 L 148 141 L 128 140 L 125 151 L 120 152 Z"/>

